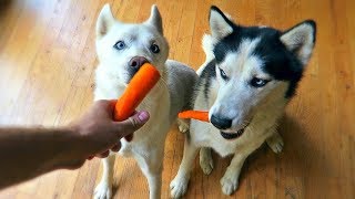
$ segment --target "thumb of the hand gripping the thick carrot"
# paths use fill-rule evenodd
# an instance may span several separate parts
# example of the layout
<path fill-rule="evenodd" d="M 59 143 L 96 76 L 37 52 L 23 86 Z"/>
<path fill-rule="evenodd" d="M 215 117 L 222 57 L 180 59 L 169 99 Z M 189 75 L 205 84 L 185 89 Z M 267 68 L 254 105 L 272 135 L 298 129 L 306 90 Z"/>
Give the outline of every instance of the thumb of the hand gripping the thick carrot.
<path fill-rule="evenodd" d="M 140 129 L 149 121 L 148 112 L 136 112 L 130 118 L 123 122 L 115 122 L 115 127 L 120 137 L 124 137 Z"/>

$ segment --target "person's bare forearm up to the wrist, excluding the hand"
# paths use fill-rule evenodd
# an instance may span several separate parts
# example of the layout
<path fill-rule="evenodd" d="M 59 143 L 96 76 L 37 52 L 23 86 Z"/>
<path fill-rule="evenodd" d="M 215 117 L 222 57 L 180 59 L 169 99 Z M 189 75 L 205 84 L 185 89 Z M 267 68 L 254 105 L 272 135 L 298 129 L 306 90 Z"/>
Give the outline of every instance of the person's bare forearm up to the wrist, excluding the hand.
<path fill-rule="evenodd" d="M 79 145 L 70 128 L 0 128 L 0 188 L 82 164 Z"/>

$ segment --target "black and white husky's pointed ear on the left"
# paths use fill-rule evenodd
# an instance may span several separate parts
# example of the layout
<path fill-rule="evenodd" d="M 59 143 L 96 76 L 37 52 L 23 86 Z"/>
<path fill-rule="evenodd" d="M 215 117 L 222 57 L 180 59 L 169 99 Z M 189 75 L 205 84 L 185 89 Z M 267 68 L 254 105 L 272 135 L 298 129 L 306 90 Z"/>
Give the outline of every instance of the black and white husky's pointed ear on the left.
<path fill-rule="evenodd" d="M 233 32 L 233 22 L 215 6 L 211 7 L 209 21 L 212 36 L 216 39 Z"/>

